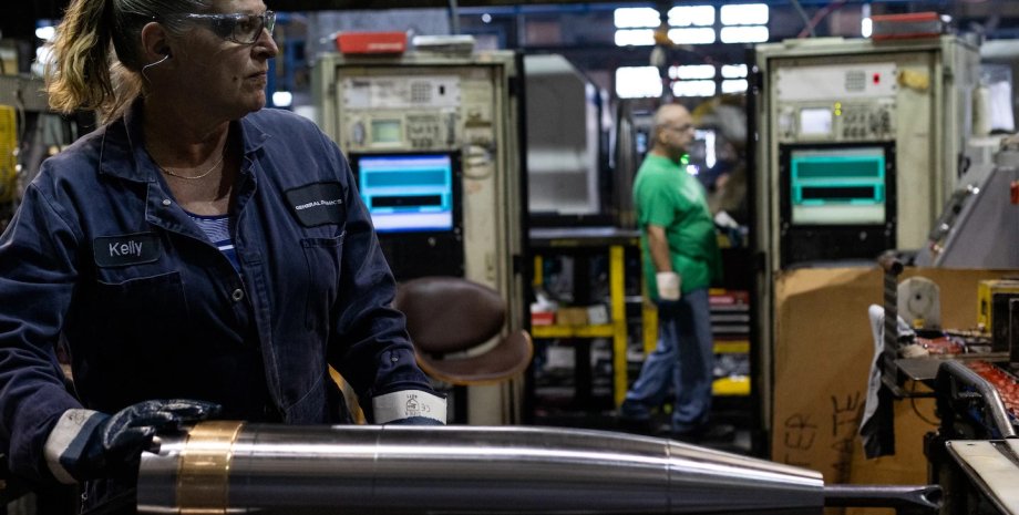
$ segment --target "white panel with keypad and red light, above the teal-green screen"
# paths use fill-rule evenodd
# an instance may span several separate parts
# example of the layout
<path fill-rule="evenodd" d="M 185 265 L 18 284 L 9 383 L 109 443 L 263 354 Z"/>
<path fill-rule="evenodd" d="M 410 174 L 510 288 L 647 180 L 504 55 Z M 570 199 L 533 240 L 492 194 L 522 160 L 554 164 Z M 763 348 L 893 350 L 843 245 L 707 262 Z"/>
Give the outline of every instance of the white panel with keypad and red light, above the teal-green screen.
<path fill-rule="evenodd" d="M 775 73 L 780 102 L 894 97 L 897 87 L 895 63 L 781 68 Z"/>

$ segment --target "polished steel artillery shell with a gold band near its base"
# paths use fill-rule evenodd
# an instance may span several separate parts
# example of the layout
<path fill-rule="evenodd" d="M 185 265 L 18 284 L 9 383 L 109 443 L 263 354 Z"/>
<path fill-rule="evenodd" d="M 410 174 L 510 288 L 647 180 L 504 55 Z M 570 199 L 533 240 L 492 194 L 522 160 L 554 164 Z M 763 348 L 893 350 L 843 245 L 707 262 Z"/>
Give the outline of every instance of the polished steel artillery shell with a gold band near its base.
<path fill-rule="evenodd" d="M 821 514 L 821 473 L 601 431 L 205 422 L 145 453 L 138 512 Z"/>

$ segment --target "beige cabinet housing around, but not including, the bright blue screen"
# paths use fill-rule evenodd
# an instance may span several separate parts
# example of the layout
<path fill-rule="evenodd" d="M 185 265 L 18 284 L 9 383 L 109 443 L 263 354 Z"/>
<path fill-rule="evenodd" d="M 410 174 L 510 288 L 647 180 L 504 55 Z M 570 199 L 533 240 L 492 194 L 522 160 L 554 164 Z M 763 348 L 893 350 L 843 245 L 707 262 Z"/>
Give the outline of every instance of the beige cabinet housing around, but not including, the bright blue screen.
<path fill-rule="evenodd" d="M 517 62 L 516 54 L 504 51 L 327 53 L 316 63 L 312 84 L 317 122 L 348 156 L 410 153 L 459 159 L 459 226 L 447 235 L 455 239 L 443 246 L 435 235 L 401 233 L 380 234 L 380 240 L 398 280 L 401 267 L 425 264 L 433 275 L 459 276 L 500 291 L 511 329 L 522 327 L 524 317 L 524 282 L 514 266 L 523 258 L 525 195 L 519 99 L 512 86 Z M 470 423 L 505 423 L 518 415 L 507 410 L 518 409 L 519 402 L 497 390 L 486 393 L 475 394 L 472 387 Z"/>

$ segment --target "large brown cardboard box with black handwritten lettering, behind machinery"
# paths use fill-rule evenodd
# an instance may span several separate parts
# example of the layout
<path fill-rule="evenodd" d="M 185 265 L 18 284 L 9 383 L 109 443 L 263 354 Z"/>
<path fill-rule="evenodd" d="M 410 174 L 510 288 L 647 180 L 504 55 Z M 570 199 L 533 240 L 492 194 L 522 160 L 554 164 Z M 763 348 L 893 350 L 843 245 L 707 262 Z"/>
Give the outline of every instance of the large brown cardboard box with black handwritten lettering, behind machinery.
<path fill-rule="evenodd" d="M 941 325 L 961 329 L 976 325 L 977 284 L 1010 272 L 907 268 L 899 280 L 935 281 Z M 926 484 L 923 435 L 935 428 L 924 419 L 937 420 L 933 400 L 916 400 L 924 419 L 909 401 L 896 402 L 895 455 L 866 460 L 857 436 L 874 357 L 867 308 L 883 302 L 882 270 L 789 270 L 774 288 L 772 460 L 820 471 L 830 484 Z"/>

